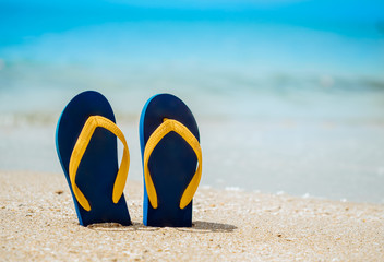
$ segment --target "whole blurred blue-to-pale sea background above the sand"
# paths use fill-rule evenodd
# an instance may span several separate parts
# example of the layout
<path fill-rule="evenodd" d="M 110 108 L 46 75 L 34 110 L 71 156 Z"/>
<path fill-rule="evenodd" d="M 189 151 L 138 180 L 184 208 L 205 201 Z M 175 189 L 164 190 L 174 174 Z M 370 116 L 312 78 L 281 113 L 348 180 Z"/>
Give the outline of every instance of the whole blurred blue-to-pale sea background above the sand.
<path fill-rule="evenodd" d="M 67 103 L 101 92 L 141 180 L 139 116 L 192 109 L 202 183 L 384 203 L 384 2 L 0 0 L 0 170 L 61 174 Z"/>

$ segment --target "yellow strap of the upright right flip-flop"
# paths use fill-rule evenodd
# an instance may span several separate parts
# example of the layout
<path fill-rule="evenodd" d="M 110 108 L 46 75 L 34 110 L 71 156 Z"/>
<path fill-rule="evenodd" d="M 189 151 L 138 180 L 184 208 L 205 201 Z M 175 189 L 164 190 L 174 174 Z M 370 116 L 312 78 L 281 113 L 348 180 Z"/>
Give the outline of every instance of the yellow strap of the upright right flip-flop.
<path fill-rule="evenodd" d="M 185 142 L 192 147 L 194 153 L 197 156 L 199 167 L 187 189 L 184 190 L 181 200 L 180 200 L 180 209 L 184 209 L 191 201 L 194 193 L 197 190 L 200 179 L 202 177 L 202 150 L 200 147 L 200 143 L 196 138 L 191 133 L 191 131 L 183 126 L 181 122 L 165 119 L 165 121 L 158 126 L 158 128 L 152 133 L 148 141 L 146 142 L 144 150 L 144 178 L 146 184 L 146 192 L 151 202 L 152 207 L 157 209 L 157 194 L 154 182 L 152 180 L 148 162 L 152 152 L 155 150 L 156 145 L 160 142 L 160 140 L 168 134 L 169 132 L 175 131 L 181 138 L 185 140 Z"/>

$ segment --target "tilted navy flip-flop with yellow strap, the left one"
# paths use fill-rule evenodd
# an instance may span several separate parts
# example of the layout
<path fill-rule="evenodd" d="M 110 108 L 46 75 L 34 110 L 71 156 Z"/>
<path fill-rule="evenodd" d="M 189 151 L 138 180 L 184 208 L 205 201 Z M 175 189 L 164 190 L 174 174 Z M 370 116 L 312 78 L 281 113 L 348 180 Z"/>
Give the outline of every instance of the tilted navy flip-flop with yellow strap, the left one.
<path fill-rule="evenodd" d="M 116 136 L 124 145 L 120 168 Z M 80 225 L 131 225 L 123 195 L 130 164 L 128 145 L 101 94 L 87 91 L 67 105 L 58 121 L 56 148 Z"/>

